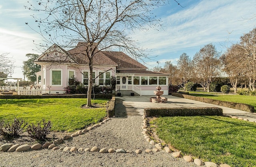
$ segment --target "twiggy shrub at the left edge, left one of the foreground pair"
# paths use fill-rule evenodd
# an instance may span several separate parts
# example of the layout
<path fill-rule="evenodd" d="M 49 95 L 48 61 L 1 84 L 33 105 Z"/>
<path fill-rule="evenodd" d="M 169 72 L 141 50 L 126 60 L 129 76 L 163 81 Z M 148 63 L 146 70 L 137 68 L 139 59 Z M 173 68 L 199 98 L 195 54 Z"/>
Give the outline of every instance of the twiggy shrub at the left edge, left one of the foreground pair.
<path fill-rule="evenodd" d="M 0 120 L 0 134 L 5 138 L 17 137 L 26 125 L 22 118 L 14 118 L 12 123 Z"/>

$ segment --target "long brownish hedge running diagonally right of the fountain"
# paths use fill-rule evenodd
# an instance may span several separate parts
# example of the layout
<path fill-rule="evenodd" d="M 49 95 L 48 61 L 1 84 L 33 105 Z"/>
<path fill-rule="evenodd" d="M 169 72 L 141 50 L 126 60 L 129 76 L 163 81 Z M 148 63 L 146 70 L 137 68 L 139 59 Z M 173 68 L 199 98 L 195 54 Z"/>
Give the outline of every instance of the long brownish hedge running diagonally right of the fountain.
<path fill-rule="evenodd" d="M 187 99 L 190 99 L 190 100 L 196 100 L 196 101 L 200 101 L 200 102 L 206 102 L 206 103 L 215 104 L 215 105 L 218 105 L 218 106 L 234 108 L 234 109 L 237 109 L 237 110 L 242 110 L 242 111 L 247 111 L 247 112 L 254 112 L 254 106 L 251 106 L 251 105 L 248 105 L 248 104 L 243 104 L 243 103 L 225 102 L 225 101 L 221 101 L 221 100 L 213 100 L 213 99 L 210 99 L 210 98 L 190 96 L 190 95 L 187 95 L 187 94 L 179 94 L 179 93 L 172 93 L 172 96 L 187 98 Z"/>

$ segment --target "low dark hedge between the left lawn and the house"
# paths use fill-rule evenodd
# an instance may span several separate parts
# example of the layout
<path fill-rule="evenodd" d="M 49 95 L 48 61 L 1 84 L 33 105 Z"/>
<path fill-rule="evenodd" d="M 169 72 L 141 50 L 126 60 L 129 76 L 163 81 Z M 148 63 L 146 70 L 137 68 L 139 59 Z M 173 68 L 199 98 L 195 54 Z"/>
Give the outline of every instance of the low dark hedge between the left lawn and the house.
<path fill-rule="evenodd" d="M 111 99 L 112 94 L 95 94 L 91 98 L 97 99 Z M 87 98 L 87 94 L 52 94 L 52 95 L 42 95 L 42 96 L 33 96 L 33 95 L 2 95 L 0 99 L 25 99 L 25 98 Z"/>

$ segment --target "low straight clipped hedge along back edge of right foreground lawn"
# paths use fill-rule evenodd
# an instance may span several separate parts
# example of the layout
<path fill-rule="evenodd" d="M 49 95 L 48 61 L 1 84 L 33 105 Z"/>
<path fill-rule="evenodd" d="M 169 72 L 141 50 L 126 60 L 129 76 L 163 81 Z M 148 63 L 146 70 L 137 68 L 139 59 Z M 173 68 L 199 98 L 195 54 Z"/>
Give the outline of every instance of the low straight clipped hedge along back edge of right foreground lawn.
<path fill-rule="evenodd" d="M 144 108 L 144 115 L 152 116 L 222 116 L 222 108 Z"/>

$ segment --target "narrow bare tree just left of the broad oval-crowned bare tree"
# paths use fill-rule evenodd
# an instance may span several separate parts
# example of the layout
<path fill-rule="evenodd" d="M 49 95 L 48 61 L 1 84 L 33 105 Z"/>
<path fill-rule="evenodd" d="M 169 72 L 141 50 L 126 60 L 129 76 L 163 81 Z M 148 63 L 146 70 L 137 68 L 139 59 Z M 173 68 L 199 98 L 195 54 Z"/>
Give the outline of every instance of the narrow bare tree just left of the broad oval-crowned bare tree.
<path fill-rule="evenodd" d="M 178 76 L 180 78 L 181 85 L 185 90 L 186 83 L 192 78 L 193 66 L 190 57 L 187 53 L 182 53 L 180 59 L 177 62 Z"/>

